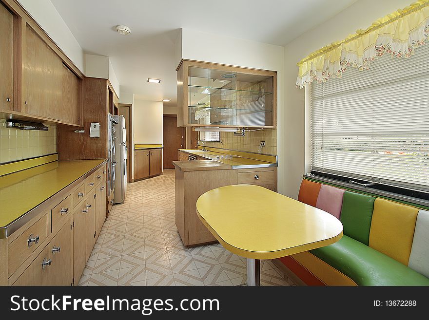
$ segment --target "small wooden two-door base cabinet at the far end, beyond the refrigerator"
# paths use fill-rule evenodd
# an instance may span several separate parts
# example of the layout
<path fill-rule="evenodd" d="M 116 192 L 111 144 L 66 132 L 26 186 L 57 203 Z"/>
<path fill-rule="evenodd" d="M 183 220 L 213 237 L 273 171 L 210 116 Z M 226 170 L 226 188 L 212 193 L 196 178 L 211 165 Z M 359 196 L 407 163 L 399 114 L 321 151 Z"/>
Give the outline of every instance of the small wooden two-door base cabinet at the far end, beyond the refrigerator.
<path fill-rule="evenodd" d="M 134 180 L 153 177 L 162 173 L 162 149 L 134 151 Z"/>

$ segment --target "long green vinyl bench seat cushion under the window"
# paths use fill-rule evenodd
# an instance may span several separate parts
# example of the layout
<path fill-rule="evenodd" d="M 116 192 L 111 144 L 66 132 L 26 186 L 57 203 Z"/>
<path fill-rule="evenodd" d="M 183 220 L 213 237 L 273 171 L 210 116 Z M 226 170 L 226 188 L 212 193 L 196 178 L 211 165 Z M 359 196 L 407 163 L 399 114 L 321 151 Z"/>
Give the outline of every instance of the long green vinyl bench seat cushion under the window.
<path fill-rule="evenodd" d="M 424 275 L 346 235 L 310 252 L 357 285 L 429 285 Z"/>

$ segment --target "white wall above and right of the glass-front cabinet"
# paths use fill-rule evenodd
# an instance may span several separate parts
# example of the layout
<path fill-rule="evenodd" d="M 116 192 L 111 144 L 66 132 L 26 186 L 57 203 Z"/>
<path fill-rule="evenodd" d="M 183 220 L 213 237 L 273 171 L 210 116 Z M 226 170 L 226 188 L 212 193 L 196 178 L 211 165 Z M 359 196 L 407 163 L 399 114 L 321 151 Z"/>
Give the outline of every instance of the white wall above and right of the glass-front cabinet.
<path fill-rule="evenodd" d="M 277 71 L 277 154 L 278 174 L 284 176 L 286 149 L 284 143 L 284 47 L 238 38 L 182 29 L 182 58 L 222 63 L 239 67 Z M 278 180 L 284 193 L 287 181 Z"/>

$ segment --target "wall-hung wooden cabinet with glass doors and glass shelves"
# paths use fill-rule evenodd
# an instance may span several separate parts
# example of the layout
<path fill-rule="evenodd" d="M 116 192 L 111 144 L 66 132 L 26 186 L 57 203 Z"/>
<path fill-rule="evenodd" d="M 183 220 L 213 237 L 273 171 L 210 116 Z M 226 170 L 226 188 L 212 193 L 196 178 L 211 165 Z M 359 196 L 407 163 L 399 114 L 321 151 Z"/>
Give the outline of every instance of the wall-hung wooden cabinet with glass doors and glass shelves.
<path fill-rule="evenodd" d="M 275 128 L 277 72 L 182 60 L 177 126 Z"/>

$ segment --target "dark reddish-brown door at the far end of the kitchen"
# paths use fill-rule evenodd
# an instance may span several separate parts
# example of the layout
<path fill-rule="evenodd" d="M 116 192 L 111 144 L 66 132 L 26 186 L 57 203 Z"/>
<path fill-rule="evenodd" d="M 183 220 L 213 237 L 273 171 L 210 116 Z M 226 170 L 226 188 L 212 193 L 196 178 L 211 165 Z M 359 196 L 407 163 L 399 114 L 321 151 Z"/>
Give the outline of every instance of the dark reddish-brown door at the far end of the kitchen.
<path fill-rule="evenodd" d="M 183 149 L 183 128 L 177 127 L 177 114 L 164 114 L 162 117 L 164 145 L 163 168 L 174 169 L 173 161 L 179 159 L 177 149 Z"/>

